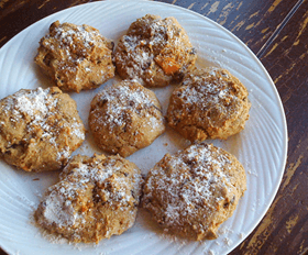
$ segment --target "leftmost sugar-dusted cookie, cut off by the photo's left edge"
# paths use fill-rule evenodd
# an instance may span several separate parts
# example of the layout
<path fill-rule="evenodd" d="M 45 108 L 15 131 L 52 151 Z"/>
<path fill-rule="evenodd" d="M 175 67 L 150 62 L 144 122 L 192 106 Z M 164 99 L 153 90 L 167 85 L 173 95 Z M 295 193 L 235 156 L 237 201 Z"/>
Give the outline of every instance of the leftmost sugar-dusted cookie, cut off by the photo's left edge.
<path fill-rule="evenodd" d="M 58 170 L 84 140 L 76 102 L 57 87 L 21 89 L 0 101 L 0 153 L 10 165 Z"/>

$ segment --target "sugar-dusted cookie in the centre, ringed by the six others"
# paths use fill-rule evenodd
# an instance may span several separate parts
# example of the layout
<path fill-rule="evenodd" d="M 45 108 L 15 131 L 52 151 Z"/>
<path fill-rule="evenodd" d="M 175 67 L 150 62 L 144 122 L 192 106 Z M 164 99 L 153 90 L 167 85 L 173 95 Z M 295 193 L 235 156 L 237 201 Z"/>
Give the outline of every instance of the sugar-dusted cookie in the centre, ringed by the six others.
<path fill-rule="evenodd" d="M 89 126 L 101 149 L 123 157 L 148 146 L 165 131 L 158 99 L 135 80 L 99 92 L 91 102 Z"/>

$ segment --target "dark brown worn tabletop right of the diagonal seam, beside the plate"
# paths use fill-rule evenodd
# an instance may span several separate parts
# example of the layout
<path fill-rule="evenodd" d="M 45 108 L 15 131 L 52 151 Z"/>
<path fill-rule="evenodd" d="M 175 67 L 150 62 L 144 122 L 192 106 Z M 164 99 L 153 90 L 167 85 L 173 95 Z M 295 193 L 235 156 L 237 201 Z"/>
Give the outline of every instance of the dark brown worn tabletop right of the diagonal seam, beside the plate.
<path fill-rule="evenodd" d="M 308 1 L 261 58 L 280 95 L 289 149 L 279 191 L 263 221 L 231 254 L 308 252 Z"/>

